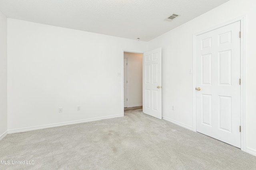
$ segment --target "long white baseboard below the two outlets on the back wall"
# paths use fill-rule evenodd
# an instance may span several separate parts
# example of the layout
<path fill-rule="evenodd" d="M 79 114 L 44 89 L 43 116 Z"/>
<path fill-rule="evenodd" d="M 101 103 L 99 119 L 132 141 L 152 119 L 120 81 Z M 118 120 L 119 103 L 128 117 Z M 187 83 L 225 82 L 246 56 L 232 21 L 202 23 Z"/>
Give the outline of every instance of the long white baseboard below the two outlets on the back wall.
<path fill-rule="evenodd" d="M 50 125 L 25 127 L 25 128 L 20 128 L 20 129 L 11 129 L 11 130 L 8 130 L 8 134 L 10 134 L 10 133 L 18 133 L 18 132 L 26 132 L 26 131 L 34 131 L 34 130 L 38 130 L 38 129 L 46 129 L 46 128 L 50 128 L 50 127 L 72 125 L 72 124 L 77 124 L 77 123 L 84 123 L 84 122 L 89 122 L 89 121 L 97 121 L 97 120 L 102 120 L 102 119 L 110 119 L 110 118 L 123 117 L 123 116 L 124 115 L 119 114 L 119 115 L 96 117 L 96 118 L 83 119 L 83 120 L 77 120 L 77 121 L 69 121 L 69 122 L 63 122 L 63 123 L 54 123 L 54 124 L 50 124 Z"/>

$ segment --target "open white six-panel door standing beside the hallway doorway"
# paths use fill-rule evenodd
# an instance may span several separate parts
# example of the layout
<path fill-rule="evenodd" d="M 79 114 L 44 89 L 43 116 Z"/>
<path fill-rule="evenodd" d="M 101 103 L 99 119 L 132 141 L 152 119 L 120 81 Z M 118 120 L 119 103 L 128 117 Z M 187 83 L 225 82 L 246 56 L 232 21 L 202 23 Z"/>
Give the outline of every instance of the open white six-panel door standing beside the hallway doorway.
<path fill-rule="evenodd" d="M 143 54 L 143 113 L 162 119 L 162 49 Z"/>

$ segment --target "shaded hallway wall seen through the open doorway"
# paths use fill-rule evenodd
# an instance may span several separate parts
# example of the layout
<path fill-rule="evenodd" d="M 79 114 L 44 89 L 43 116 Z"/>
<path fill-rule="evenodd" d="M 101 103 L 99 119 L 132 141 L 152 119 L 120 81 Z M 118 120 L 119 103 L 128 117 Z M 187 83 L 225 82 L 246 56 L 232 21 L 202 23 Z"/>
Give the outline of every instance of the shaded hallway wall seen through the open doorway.
<path fill-rule="evenodd" d="M 128 107 L 142 106 L 143 54 L 124 52 L 128 59 Z"/>

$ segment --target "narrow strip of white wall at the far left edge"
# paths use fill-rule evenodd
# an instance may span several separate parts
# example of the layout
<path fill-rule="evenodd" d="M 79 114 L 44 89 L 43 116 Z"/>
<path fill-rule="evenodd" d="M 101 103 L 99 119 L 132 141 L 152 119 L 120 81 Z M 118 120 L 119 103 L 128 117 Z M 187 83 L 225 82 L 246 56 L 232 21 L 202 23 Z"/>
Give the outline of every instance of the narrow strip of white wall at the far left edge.
<path fill-rule="evenodd" d="M 7 18 L 0 12 L 0 139 L 7 134 Z"/>

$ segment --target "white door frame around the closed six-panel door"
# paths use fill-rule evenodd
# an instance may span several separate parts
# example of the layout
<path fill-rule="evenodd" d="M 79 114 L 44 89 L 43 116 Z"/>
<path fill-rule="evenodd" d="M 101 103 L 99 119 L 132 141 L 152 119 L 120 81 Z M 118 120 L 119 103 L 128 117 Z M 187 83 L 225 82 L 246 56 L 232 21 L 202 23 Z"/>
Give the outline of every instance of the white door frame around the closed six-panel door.
<path fill-rule="evenodd" d="M 241 150 L 246 152 L 246 16 L 222 23 L 193 35 L 193 131 L 196 132 L 196 36 L 240 21 L 240 74 L 241 74 Z M 238 35 L 239 36 L 239 35 Z"/>

